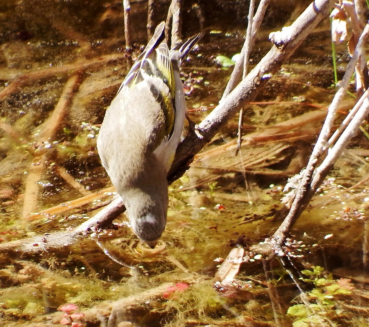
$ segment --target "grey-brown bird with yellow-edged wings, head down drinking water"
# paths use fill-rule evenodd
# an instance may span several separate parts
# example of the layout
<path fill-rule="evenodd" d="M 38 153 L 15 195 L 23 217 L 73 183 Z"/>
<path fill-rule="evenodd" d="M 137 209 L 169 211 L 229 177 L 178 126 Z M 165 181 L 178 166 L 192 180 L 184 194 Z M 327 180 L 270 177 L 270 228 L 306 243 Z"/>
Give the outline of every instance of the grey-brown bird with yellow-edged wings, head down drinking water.
<path fill-rule="evenodd" d="M 165 229 L 167 174 L 186 113 L 180 64 L 199 37 L 169 49 L 161 22 L 111 101 L 97 137 L 101 163 L 132 230 L 151 248 Z"/>

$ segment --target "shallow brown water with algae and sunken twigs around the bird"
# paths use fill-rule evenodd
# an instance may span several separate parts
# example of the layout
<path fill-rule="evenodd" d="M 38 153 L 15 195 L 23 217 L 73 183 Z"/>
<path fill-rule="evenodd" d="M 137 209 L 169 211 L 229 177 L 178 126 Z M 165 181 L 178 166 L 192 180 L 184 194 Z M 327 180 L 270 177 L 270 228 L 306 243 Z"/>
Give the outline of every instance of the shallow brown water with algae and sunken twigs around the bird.
<path fill-rule="evenodd" d="M 166 8 L 158 5 L 157 17 Z M 231 73 L 215 57 L 232 56 L 243 42 L 244 8 L 233 24 L 215 8 L 213 32 L 182 67 L 187 109 L 196 123 L 217 104 Z M 232 12 L 232 6 L 224 8 L 225 14 Z M 306 165 L 334 94 L 328 21 L 245 108 L 238 156 L 235 117 L 169 186 L 161 251 L 140 249 L 124 214 L 74 244 L 64 246 L 70 243 L 66 236 L 59 247 L 38 251 L 45 246 L 38 234 L 68 233 L 113 197 L 111 189 L 100 198 L 94 195 L 111 187 L 96 135 L 131 65 L 123 51 L 123 10 L 120 2 L 39 1 L 32 6 L 8 1 L 0 11 L 2 326 L 59 326 L 65 303 L 77 305 L 74 313 L 85 316 L 72 319 L 86 326 L 107 326 L 109 316 L 108 326 L 120 327 L 291 326 L 306 308 L 312 310 L 311 326 L 367 325 L 368 185 L 364 181 L 349 189 L 369 172 L 363 134 L 355 137 L 294 226 L 289 256 L 252 259 L 230 283 L 214 280 L 232 248 L 273 234 L 280 224 L 275 214 L 282 207 L 283 186 Z M 146 42 L 146 4 L 132 4 L 132 13 L 135 59 Z M 191 18 L 193 12 L 186 15 Z M 263 24 L 252 64 L 268 51 L 269 32 L 282 25 Z M 186 36 L 196 27 L 186 29 Z M 344 47 L 336 51 L 342 75 L 348 57 Z M 342 102 L 342 117 L 353 103 L 349 96 Z M 92 198 L 72 207 L 71 201 L 83 196 Z M 54 206 L 65 210 L 34 214 Z M 34 252 L 8 243 L 28 237 L 33 237 Z M 299 275 L 304 269 L 310 275 Z M 310 281 L 299 280 L 308 276 Z M 302 303 L 305 311 L 298 306 Z"/>

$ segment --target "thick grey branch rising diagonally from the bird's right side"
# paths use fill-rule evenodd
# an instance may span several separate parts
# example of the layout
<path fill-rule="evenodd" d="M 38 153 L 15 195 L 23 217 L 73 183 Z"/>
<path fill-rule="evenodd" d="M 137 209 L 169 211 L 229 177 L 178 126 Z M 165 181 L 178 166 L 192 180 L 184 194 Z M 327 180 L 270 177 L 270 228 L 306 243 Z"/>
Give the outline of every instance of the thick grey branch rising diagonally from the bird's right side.
<path fill-rule="evenodd" d="M 313 31 L 333 5 L 332 0 L 317 0 L 310 4 L 299 18 L 282 32 L 272 35 L 276 45 L 265 55 L 259 64 L 251 70 L 241 83 L 198 125 L 195 131 L 189 131 L 179 144 L 175 161 L 169 171 L 172 180 L 177 171 L 187 167 L 193 156 L 211 140 L 216 132 L 225 125 L 234 114 L 246 103 L 252 101 L 262 89 L 262 86 L 276 72 L 282 63 L 288 59 L 299 45 Z"/>

